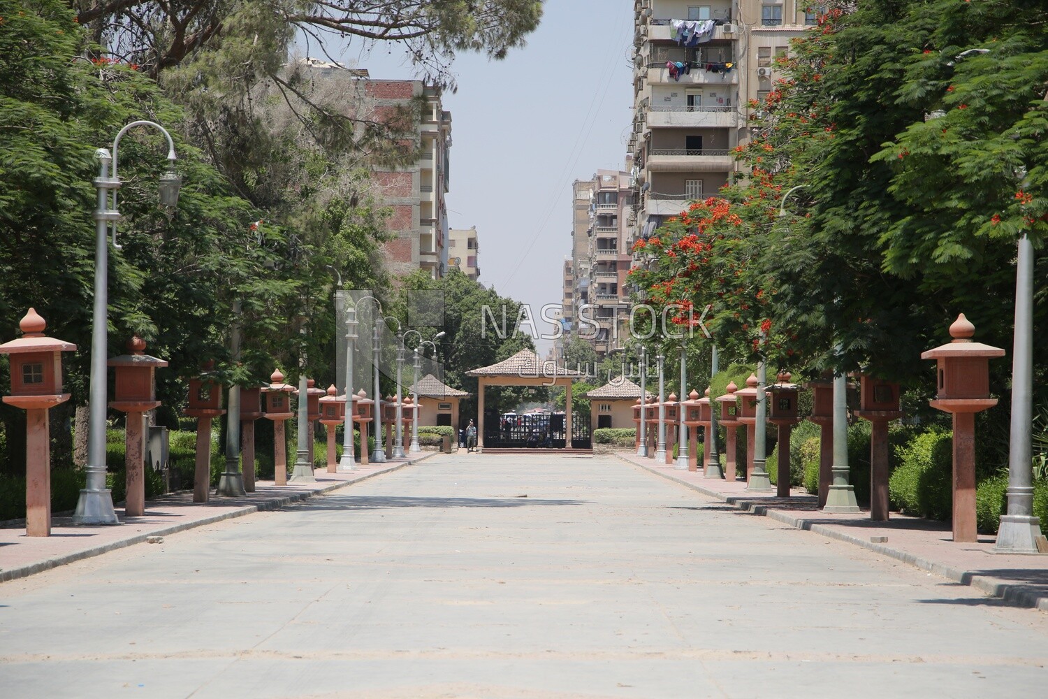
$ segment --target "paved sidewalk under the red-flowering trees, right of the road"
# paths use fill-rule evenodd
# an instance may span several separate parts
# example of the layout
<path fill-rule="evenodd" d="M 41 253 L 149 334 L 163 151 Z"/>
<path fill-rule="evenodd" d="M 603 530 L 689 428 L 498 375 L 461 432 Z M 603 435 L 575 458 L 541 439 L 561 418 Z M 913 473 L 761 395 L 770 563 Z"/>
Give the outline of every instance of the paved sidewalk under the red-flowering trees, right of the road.
<path fill-rule="evenodd" d="M 897 512 L 889 522 L 871 522 L 869 511 L 830 515 L 818 510 L 815 497 L 802 489 L 793 488 L 789 498 L 776 497 L 774 489 L 766 495 L 747 493 L 745 481 L 707 479 L 701 471 L 678 471 L 632 454 L 615 456 L 741 511 L 868 548 L 1019 607 L 1048 611 L 1048 555 L 997 554 L 994 537 L 981 534 L 977 544 L 955 544 L 948 522 Z M 871 541 L 879 537 L 887 537 L 887 542 Z"/>

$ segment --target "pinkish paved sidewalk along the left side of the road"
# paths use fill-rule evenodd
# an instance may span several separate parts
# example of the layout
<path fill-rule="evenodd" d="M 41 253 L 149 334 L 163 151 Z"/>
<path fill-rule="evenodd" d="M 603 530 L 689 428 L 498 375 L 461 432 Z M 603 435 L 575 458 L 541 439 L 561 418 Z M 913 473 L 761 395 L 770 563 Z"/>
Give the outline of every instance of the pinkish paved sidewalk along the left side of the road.
<path fill-rule="evenodd" d="M 352 483 L 388 474 L 428 459 L 437 452 L 423 452 L 411 459 L 390 459 L 384 464 L 357 465 L 348 474 L 315 471 L 315 483 L 294 483 L 277 487 L 272 481 L 257 481 L 255 493 L 243 498 L 216 498 L 193 502 L 192 490 L 183 490 L 146 502 L 143 517 L 124 517 L 116 508 L 119 525 L 75 526 L 71 517 L 54 517 L 50 537 L 26 537 L 23 524 L 0 527 L 0 583 L 25 577 L 56 566 L 100 555 L 148 537 L 163 537 L 204 524 L 252 512 L 278 509 L 288 503 L 337 490 Z M 17 521 L 16 521 L 17 522 Z"/>

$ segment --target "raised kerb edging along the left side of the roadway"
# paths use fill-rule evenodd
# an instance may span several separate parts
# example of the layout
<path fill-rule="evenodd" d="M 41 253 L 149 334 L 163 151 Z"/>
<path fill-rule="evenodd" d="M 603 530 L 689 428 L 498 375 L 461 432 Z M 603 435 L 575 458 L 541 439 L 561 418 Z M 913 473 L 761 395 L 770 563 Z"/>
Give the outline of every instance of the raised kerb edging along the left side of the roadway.
<path fill-rule="evenodd" d="M 27 566 L 9 568 L 7 570 L 0 570 L 0 583 L 7 583 L 9 581 L 19 580 L 22 577 L 28 577 L 29 575 L 42 573 L 45 570 L 51 570 L 52 568 L 58 568 L 59 566 L 75 563 L 77 561 L 83 561 L 85 559 L 91 559 L 97 555 L 102 555 L 103 553 L 116 551 L 122 548 L 133 546 L 135 544 L 141 544 L 150 537 L 167 537 L 169 534 L 178 533 L 180 531 L 185 531 L 188 529 L 194 529 L 196 527 L 206 526 L 209 524 L 215 524 L 217 522 L 222 522 L 224 520 L 245 517 L 247 515 L 253 515 L 255 512 L 264 512 L 264 511 L 280 509 L 281 507 L 294 502 L 301 502 L 318 496 L 328 495 L 330 493 L 347 487 L 349 485 L 363 483 L 364 481 L 370 480 L 376 476 L 383 476 L 385 474 L 391 474 L 395 471 L 400 471 L 401 468 L 423 461 L 433 456 L 434 454 L 436 454 L 436 452 L 431 452 L 429 454 L 420 456 L 417 459 L 412 459 L 411 461 L 406 461 L 403 463 L 399 463 L 396 464 L 395 466 L 384 468 L 381 471 L 375 471 L 374 473 L 366 474 L 351 481 L 332 483 L 331 485 L 326 485 L 323 488 L 318 488 L 315 490 L 301 490 L 299 493 L 288 494 L 286 496 L 282 496 L 279 498 L 271 498 L 269 500 L 265 500 L 263 502 L 259 502 L 253 505 L 245 505 L 244 507 L 241 507 L 239 509 L 231 510 L 227 512 L 221 512 L 219 515 L 213 515 L 202 520 L 183 522 L 181 524 L 175 524 L 170 527 L 166 527 L 163 529 L 154 529 L 145 533 L 136 534 L 129 539 L 122 539 L 119 541 L 109 542 L 108 544 L 101 544 L 99 546 L 89 549 L 84 549 L 82 551 L 74 551 L 72 553 L 56 556 L 53 559 L 47 559 L 46 561 L 39 561 L 37 563 L 31 563 Z"/>

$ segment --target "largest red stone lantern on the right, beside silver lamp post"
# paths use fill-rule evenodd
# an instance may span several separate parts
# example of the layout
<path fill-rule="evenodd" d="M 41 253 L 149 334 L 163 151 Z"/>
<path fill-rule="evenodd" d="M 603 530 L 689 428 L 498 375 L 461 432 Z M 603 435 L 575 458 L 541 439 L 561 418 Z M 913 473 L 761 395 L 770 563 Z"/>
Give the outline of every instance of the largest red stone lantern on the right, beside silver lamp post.
<path fill-rule="evenodd" d="M 1004 350 L 971 342 L 976 326 L 957 316 L 949 326 L 954 338 L 920 355 L 938 362 L 939 392 L 932 408 L 954 416 L 954 541 L 976 542 L 976 413 L 992 408 L 989 361 Z"/>

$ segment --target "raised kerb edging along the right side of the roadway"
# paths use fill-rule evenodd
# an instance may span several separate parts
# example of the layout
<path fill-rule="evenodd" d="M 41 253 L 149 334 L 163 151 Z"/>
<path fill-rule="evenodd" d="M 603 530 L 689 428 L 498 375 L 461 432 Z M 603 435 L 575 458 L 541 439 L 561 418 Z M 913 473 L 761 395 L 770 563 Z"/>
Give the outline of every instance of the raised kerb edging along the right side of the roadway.
<path fill-rule="evenodd" d="M 938 575 L 944 580 L 948 580 L 952 583 L 958 583 L 960 585 L 965 585 L 968 587 L 974 587 L 977 590 L 984 592 L 990 597 L 999 598 L 1009 605 L 1014 605 L 1017 607 L 1026 607 L 1029 609 L 1038 609 L 1041 611 L 1048 611 L 1048 595 L 1043 592 L 1031 588 L 1026 585 L 1016 585 L 1010 583 L 1000 583 L 994 578 L 987 577 L 985 575 L 978 575 L 970 570 L 958 570 L 951 566 L 945 566 L 934 561 L 929 561 L 922 556 L 909 553 L 907 551 L 900 551 L 896 548 L 886 546 L 885 544 L 875 544 L 870 541 L 865 541 L 858 537 L 845 533 L 843 531 L 837 531 L 832 527 L 825 524 L 814 524 L 810 520 L 801 517 L 793 517 L 781 510 L 772 509 L 767 505 L 761 505 L 754 503 L 749 498 L 740 498 L 737 496 L 725 496 L 716 490 L 709 488 L 704 488 L 701 485 L 695 483 L 689 483 L 682 479 L 679 479 L 672 474 L 664 474 L 655 468 L 647 465 L 637 464 L 629 459 L 626 459 L 617 454 L 614 455 L 619 461 L 623 461 L 631 466 L 641 468 L 650 474 L 664 478 L 668 481 L 677 483 L 678 485 L 683 485 L 684 487 L 700 493 L 707 498 L 713 498 L 714 500 L 719 500 L 720 502 L 727 503 L 732 505 L 737 510 L 752 512 L 759 517 L 766 517 L 768 519 L 774 520 L 782 524 L 789 525 L 794 529 L 802 531 L 811 531 L 820 536 L 826 537 L 828 539 L 833 539 L 835 541 L 844 542 L 847 544 L 854 544 L 861 548 L 865 548 L 875 553 L 880 553 L 888 558 L 894 559 L 896 561 L 901 561 L 908 565 L 911 565 L 919 570 L 930 572 L 933 575 Z"/>

